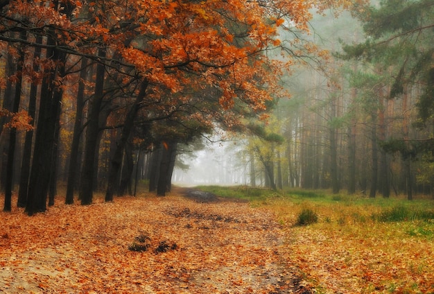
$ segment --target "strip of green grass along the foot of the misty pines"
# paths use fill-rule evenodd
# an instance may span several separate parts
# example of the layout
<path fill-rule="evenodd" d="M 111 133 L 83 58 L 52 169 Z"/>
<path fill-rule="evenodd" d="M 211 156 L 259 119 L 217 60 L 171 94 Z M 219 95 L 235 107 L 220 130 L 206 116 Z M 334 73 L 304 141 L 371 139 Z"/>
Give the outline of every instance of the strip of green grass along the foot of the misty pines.
<path fill-rule="evenodd" d="M 248 200 L 252 205 L 268 205 L 276 208 L 281 205 L 291 207 L 296 216 L 309 218 L 318 216 L 318 222 L 338 223 L 375 223 L 434 222 L 434 201 L 413 200 L 405 198 L 369 198 L 362 195 L 331 194 L 327 191 L 290 189 L 287 191 L 272 191 L 271 189 L 252 188 L 247 186 L 222 187 L 200 186 L 197 189 L 214 193 L 220 197 Z M 307 211 L 306 207 L 308 207 Z M 300 219 L 293 219 L 293 225 Z M 303 222 L 303 221 L 302 221 Z M 431 224 L 433 225 L 433 224 Z M 414 234 L 432 235 L 432 230 L 420 229 Z"/>

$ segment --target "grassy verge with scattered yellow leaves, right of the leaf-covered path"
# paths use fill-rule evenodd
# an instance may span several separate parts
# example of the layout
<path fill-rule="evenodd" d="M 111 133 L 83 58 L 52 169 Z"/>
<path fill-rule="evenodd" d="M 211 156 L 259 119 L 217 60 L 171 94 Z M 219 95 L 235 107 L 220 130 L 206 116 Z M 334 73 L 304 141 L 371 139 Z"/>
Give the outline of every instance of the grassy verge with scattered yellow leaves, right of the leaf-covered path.
<path fill-rule="evenodd" d="M 317 293 L 434 293 L 433 200 L 201 188 L 274 211 Z"/>

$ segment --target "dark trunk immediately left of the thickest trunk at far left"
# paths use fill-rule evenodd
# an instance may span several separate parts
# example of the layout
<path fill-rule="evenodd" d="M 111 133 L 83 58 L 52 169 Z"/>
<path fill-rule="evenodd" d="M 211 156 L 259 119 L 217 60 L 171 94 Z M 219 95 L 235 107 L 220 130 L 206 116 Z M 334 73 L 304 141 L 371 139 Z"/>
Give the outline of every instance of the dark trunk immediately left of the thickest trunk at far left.
<path fill-rule="evenodd" d="M 37 37 L 37 43 L 42 42 L 42 37 Z M 41 56 L 41 49 L 39 47 L 35 48 L 33 53 L 33 60 L 39 59 Z M 33 63 L 33 71 L 37 72 L 40 70 L 39 64 L 37 62 Z M 30 88 L 30 94 L 28 98 L 28 115 L 33 119 L 33 126 L 35 126 L 35 114 L 36 114 L 36 98 L 37 98 L 37 83 L 32 82 Z M 21 162 L 21 177 L 19 180 L 19 191 L 18 191 L 18 207 L 26 207 L 27 200 L 27 189 L 28 189 L 28 178 L 30 177 L 31 171 L 31 156 L 32 156 L 32 144 L 33 144 L 33 130 L 26 132 L 26 139 L 24 140 L 24 150 L 23 159 Z"/>

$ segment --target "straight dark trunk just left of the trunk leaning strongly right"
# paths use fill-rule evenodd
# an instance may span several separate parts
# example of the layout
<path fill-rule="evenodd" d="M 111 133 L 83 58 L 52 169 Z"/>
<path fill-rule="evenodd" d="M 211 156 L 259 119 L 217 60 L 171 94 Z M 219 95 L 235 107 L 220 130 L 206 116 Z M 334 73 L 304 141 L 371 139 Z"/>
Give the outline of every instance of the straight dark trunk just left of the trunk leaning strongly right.
<path fill-rule="evenodd" d="M 99 49 L 98 56 L 104 58 L 106 54 L 105 49 Z M 94 193 L 94 169 L 96 147 L 98 146 L 98 132 L 99 132 L 99 114 L 101 112 L 101 105 L 104 98 L 104 76 L 105 67 L 103 64 L 96 66 L 96 79 L 94 97 L 89 104 L 89 117 L 86 127 L 86 140 L 85 140 L 85 155 L 83 158 L 83 168 L 80 177 L 80 191 L 79 198 L 82 205 L 89 205 L 92 203 Z"/>

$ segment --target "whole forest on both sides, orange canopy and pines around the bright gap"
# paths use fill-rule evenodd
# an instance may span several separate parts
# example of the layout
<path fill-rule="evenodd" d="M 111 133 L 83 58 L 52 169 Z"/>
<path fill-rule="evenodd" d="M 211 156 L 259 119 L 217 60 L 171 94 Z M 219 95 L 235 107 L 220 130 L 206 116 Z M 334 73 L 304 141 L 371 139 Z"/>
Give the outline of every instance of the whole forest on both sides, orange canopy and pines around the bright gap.
<path fill-rule="evenodd" d="M 4 210 L 164 196 L 219 130 L 253 187 L 433 194 L 432 8 L 1 1 Z"/>

